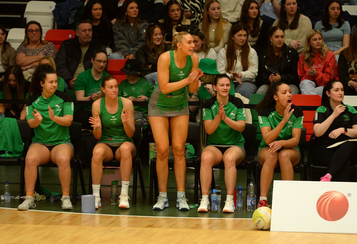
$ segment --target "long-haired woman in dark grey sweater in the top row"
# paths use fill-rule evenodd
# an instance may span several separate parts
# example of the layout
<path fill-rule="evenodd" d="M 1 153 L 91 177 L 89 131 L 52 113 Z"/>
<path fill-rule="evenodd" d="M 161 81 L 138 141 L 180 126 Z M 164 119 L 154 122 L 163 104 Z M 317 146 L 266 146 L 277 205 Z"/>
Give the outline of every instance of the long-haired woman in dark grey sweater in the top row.
<path fill-rule="evenodd" d="M 149 24 L 140 18 L 136 0 L 126 0 L 121 17 L 113 25 L 116 53 L 111 59 L 133 59 L 136 51 L 145 45 L 145 30 Z"/>

